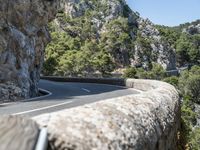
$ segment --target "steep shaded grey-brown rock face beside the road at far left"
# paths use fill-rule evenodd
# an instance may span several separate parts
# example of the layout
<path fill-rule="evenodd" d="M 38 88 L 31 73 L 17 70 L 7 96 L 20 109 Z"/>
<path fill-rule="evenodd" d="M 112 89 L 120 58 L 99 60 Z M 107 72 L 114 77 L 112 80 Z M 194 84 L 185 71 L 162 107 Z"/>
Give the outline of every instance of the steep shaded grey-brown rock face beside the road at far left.
<path fill-rule="evenodd" d="M 56 14 L 52 0 L 0 0 L 0 100 L 35 96 L 50 40 L 46 24 Z"/>

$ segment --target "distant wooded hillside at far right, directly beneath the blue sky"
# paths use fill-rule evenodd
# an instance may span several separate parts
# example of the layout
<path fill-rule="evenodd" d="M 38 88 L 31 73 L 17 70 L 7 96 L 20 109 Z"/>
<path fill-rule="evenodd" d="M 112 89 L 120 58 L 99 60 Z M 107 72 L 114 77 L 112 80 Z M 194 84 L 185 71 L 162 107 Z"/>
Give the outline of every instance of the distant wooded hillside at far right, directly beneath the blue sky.
<path fill-rule="evenodd" d="M 200 65 L 200 20 L 176 27 L 156 27 L 162 38 L 176 49 L 178 66 Z"/>

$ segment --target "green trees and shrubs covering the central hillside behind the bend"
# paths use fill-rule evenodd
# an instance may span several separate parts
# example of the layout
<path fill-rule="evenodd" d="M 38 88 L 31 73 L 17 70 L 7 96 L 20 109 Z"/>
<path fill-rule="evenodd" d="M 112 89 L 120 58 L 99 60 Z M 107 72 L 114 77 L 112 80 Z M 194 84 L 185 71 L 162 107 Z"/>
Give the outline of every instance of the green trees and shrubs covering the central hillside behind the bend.
<path fill-rule="evenodd" d="M 98 72 L 105 77 L 120 65 L 128 64 L 126 57 L 134 47 L 129 33 L 135 32 L 135 25 L 127 18 L 129 7 L 116 19 L 105 23 L 105 31 L 100 33 L 93 18 L 98 18 L 102 24 L 104 20 L 98 12 L 107 5 L 94 2 L 94 7 L 98 8 L 88 9 L 82 16 L 73 18 L 60 11 L 56 17 L 59 25 L 49 24 L 52 42 L 45 50 L 44 75 L 84 77 Z M 107 13 L 106 10 L 102 12 Z"/>

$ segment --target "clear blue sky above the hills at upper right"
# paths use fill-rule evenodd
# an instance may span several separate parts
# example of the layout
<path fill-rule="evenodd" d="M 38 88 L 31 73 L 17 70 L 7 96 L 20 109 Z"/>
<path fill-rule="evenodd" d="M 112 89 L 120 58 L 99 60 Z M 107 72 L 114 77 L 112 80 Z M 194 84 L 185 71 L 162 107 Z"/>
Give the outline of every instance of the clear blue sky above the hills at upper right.
<path fill-rule="evenodd" d="M 175 26 L 200 19 L 200 0 L 127 0 L 127 3 L 156 24 Z"/>

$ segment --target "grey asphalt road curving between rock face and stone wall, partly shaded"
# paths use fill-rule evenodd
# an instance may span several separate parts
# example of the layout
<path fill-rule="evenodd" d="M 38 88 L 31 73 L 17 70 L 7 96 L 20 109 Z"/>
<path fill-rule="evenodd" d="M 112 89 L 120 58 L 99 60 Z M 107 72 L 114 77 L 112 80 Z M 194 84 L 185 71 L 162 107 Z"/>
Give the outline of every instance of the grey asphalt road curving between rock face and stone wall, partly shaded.
<path fill-rule="evenodd" d="M 63 83 L 41 80 L 39 87 L 52 94 L 36 100 L 1 104 L 0 115 L 12 114 L 33 117 L 43 113 L 72 108 L 108 98 L 130 94 L 138 94 L 134 89 L 120 86 L 91 84 L 91 83 Z"/>

